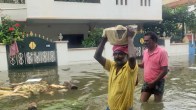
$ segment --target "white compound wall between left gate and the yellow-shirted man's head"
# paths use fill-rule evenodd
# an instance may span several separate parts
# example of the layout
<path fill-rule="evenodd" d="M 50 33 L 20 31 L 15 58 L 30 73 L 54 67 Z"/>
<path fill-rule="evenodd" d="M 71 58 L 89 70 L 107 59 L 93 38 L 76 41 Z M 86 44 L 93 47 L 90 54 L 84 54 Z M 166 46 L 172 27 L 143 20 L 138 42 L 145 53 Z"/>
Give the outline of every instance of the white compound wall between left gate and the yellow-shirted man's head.
<path fill-rule="evenodd" d="M 55 42 L 57 46 L 58 66 L 97 62 L 94 59 L 96 47 L 68 49 L 67 48 L 68 42 L 65 41 L 55 41 Z M 103 51 L 103 56 L 112 60 L 113 52 L 111 48 L 112 46 L 109 43 L 107 43 Z"/>

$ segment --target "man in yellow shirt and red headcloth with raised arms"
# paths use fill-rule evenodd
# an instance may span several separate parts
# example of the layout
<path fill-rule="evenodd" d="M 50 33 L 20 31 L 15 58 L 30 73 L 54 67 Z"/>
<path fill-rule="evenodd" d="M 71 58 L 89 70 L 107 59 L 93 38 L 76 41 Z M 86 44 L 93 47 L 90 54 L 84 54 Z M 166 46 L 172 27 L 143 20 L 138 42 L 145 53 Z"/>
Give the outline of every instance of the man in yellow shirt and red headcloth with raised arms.
<path fill-rule="evenodd" d="M 127 28 L 127 30 L 128 45 L 113 46 L 114 61 L 102 56 L 108 36 L 103 37 L 94 55 L 94 58 L 109 71 L 107 110 L 132 110 L 133 108 L 138 65 L 133 45 L 135 32 L 132 28 Z"/>

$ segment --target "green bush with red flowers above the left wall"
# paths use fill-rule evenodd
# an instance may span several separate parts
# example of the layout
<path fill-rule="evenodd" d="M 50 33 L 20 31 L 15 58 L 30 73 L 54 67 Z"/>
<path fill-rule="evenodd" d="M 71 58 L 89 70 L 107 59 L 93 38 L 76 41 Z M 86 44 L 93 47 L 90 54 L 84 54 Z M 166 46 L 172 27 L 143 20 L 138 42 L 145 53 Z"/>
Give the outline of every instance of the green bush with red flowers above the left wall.
<path fill-rule="evenodd" d="M 22 35 L 22 26 L 19 23 L 7 17 L 2 19 L 0 24 L 0 43 L 10 45 L 14 41 L 21 41 Z"/>

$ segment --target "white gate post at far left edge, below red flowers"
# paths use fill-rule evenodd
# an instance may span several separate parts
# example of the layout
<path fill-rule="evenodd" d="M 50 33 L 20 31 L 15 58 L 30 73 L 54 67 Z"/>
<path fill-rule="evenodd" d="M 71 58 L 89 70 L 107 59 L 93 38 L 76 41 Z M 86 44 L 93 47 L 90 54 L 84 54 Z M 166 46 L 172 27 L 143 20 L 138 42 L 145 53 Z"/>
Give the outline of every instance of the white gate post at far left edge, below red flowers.
<path fill-rule="evenodd" d="M 8 60 L 7 60 L 7 52 L 6 45 L 0 43 L 0 71 L 8 70 Z"/>

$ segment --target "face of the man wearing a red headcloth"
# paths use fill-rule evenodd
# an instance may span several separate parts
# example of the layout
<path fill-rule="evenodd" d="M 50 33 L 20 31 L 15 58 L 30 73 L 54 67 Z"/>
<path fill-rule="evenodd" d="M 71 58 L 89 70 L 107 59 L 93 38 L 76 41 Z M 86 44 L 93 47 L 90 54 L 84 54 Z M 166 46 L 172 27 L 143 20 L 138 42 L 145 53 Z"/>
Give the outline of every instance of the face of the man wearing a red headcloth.
<path fill-rule="evenodd" d="M 123 66 L 127 62 L 127 54 L 122 51 L 114 51 L 113 56 L 117 66 Z"/>

